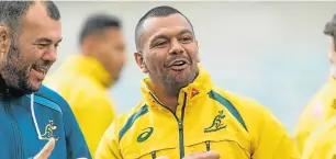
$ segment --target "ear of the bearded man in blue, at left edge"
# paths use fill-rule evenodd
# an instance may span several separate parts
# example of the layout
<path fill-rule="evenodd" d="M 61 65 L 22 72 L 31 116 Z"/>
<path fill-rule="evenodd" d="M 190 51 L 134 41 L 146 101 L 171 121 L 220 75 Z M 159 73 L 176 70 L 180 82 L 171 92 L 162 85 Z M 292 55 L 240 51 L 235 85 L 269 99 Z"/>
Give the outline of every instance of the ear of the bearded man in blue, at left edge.
<path fill-rule="evenodd" d="M 0 60 L 9 52 L 11 46 L 11 37 L 8 27 L 0 25 Z"/>

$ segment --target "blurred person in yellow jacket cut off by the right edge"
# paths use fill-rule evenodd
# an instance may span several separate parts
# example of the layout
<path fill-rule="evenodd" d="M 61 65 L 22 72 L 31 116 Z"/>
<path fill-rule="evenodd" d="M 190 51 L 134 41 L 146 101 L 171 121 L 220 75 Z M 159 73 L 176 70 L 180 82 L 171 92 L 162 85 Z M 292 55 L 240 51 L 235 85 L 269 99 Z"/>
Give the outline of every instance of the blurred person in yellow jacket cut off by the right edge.
<path fill-rule="evenodd" d="M 317 126 L 336 115 L 336 14 L 325 25 L 324 33 L 331 36 L 329 60 L 333 64 L 328 82 L 314 95 L 303 111 L 294 130 L 296 146 L 303 151 L 306 138 Z"/>

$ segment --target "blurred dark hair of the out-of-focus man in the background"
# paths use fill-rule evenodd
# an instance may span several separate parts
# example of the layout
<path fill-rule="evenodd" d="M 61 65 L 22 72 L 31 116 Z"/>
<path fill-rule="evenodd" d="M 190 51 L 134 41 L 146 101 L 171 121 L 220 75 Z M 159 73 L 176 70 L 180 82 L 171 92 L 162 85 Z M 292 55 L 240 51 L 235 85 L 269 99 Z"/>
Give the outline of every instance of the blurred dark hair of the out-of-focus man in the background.
<path fill-rule="evenodd" d="M 99 34 L 105 29 L 116 27 L 121 29 L 121 21 L 110 14 L 96 13 L 90 15 L 83 23 L 83 26 L 79 33 L 79 44 L 81 45 L 83 39 L 90 35 Z"/>

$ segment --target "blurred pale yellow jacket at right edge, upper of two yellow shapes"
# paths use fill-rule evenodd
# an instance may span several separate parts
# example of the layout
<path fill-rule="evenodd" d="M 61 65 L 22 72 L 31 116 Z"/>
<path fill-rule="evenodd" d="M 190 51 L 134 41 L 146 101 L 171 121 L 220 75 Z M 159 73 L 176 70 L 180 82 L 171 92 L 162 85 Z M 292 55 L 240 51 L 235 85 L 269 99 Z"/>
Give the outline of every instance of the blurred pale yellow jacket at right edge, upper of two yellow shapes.
<path fill-rule="evenodd" d="M 336 80 L 329 81 L 314 95 L 303 111 L 294 129 L 295 143 L 300 152 L 303 151 L 306 138 L 317 126 L 336 115 Z"/>

